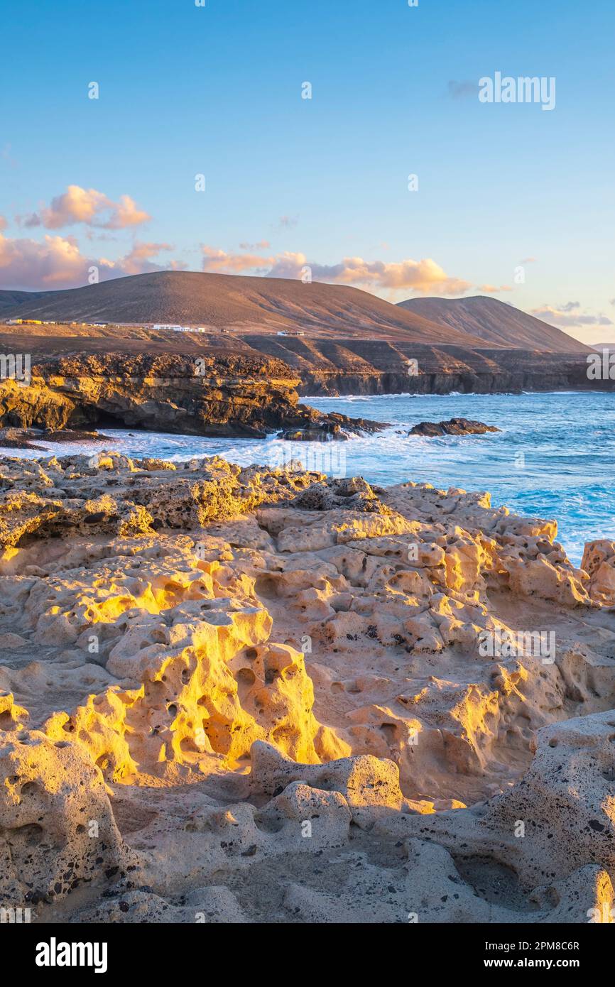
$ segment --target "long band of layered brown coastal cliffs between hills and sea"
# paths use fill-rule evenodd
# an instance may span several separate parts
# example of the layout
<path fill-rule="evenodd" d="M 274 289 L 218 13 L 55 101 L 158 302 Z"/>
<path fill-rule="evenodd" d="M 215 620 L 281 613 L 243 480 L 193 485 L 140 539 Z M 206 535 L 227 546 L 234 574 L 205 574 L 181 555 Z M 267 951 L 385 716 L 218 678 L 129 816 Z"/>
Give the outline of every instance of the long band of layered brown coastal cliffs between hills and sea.
<path fill-rule="evenodd" d="M 38 364 L 38 386 L 40 381 L 46 386 L 38 405 L 57 407 L 57 420 L 64 420 L 65 406 L 77 427 L 100 424 L 104 415 L 133 427 L 160 427 L 149 423 L 155 408 L 168 430 L 253 435 L 271 427 L 309 427 L 314 419 L 296 408 L 297 393 L 493 394 L 615 386 L 615 381 L 587 378 L 584 352 L 427 345 L 408 338 L 201 336 L 127 327 L 3 329 L 0 353 L 32 353 Z M 14 413 L 0 418 L 0 425 L 28 424 L 15 397 L 12 404 L 6 398 L 0 383 L 0 415 L 2 408 L 5 415 Z M 21 395 L 18 405 L 25 411 L 27 404 Z M 51 408 L 45 414 L 53 418 Z M 54 420 L 52 427 L 58 426 Z"/>

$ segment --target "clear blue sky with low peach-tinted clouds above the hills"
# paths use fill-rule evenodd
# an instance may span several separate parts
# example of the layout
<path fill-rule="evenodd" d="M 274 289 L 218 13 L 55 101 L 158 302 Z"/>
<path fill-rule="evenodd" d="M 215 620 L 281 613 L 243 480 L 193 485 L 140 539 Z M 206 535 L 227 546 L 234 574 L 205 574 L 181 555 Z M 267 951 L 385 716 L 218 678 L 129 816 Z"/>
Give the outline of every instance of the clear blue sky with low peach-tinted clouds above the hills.
<path fill-rule="evenodd" d="M 3 0 L 1 18 L 0 287 L 307 265 L 615 338 L 607 0 Z M 481 103 L 496 71 L 555 77 L 555 109 Z"/>

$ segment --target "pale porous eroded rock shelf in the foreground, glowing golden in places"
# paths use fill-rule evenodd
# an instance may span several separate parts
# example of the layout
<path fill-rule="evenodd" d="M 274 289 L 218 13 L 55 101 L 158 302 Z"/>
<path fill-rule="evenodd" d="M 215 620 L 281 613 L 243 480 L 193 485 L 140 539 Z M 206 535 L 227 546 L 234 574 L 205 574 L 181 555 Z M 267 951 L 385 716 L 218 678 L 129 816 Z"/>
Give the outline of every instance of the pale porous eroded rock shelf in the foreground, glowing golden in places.
<path fill-rule="evenodd" d="M 611 921 L 615 551 L 556 536 L 487 493 L 3 459 L 0 905 Z"/>

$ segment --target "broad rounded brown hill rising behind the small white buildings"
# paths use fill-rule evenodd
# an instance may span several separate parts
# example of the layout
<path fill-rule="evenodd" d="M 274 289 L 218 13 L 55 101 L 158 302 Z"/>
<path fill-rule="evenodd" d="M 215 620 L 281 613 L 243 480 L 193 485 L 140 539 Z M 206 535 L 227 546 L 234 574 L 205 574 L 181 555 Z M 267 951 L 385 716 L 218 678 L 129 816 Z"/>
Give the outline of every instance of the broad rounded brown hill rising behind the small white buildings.
<path fill-rule="evenodd" d="M 358 288 L 273 277 L 156 271 L 65 291 L 33 293 L 2 308 L 3 318 L 117 323 L 183 323 L 211 329 L 385 336 L 407 342 L 480 345 L 478 337 Z"/>

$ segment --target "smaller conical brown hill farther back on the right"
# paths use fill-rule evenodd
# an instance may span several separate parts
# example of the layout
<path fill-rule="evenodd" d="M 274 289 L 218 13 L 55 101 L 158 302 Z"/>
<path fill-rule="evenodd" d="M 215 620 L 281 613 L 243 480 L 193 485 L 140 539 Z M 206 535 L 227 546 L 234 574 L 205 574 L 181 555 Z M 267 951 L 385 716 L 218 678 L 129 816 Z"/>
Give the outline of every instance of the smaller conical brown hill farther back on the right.
<path fill-rule="evenodd" d="M 589 352 L 590 347 L 561 329 L 506 305 L 497 298 L 409 298 L 397 306 L 492 345 L 542 352 Z"/>

